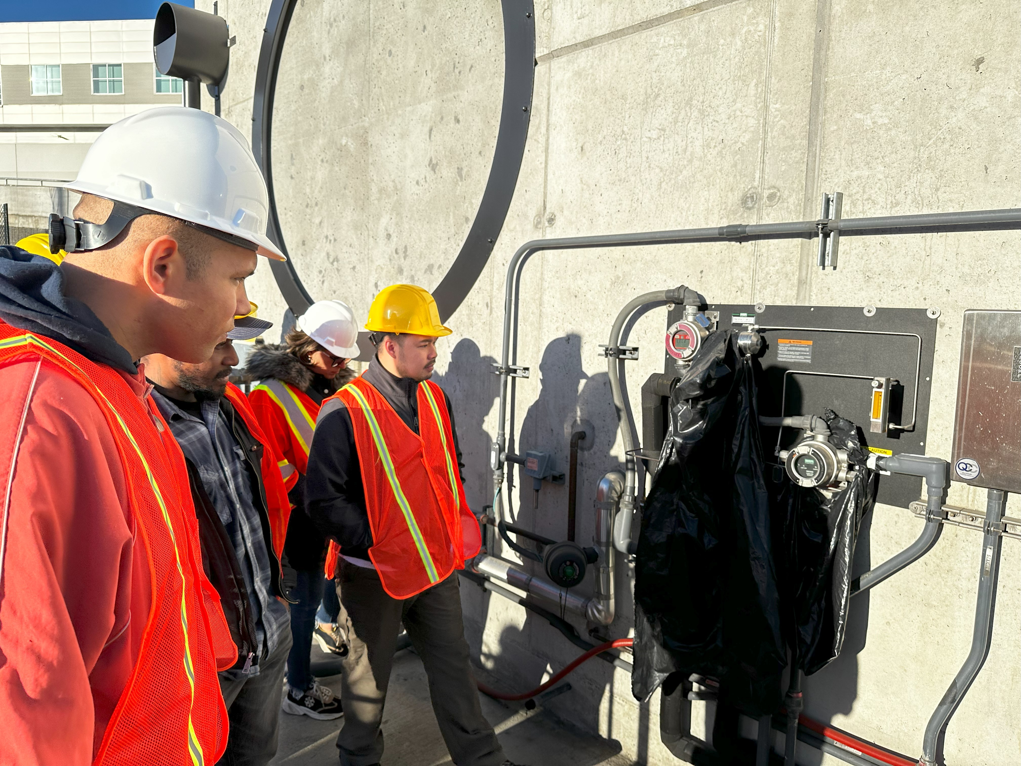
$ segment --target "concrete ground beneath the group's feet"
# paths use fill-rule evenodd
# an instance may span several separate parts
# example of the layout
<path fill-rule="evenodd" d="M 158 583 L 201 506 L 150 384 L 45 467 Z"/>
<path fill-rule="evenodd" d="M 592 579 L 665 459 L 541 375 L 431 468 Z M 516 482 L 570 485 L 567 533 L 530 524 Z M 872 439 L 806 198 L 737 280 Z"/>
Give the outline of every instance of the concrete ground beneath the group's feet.
<path fill-rule="evenodd" d="M 312 649 L 312 657 L 319 651 Z M 318 659 L 318 658 L 317 658 Z M 313 667 L 313 672 L 315 669 Z M 478 671 L 477 671 L 478 672 Z M 340 678 L 321 682 L 339 690 Z M 496 683 L 495 679 L 485 679 Z M 514 763 L 527 766 L 632 766 L 619 755 L 615 741 L 586 734 L 560 721 L 542 707 L 526 710 L 522 703 L 500 703 L 481 696 L 485 713 Z M 335 766 L 334 745 L 343 718 L 315 721 L 307 716 L 280 714 L 280 748 L 273 764 Z M 400 652 L 393 666 L 383 718 L 386 753 L 382 766 L 447 766 L 447 755 L 429 702 L 422 661 L 411 651 Z"/>

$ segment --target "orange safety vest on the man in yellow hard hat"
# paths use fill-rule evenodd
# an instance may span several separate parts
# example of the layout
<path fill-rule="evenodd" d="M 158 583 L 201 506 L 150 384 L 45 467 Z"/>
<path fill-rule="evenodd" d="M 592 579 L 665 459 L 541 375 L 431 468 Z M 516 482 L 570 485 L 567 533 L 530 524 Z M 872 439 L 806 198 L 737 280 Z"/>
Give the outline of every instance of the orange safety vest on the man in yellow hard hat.
<path fill-rule="evenodd" d="M 457 474 L 446 397 L 419 384 L 419 433 L 363 377 L 334 394 L 351 416 L 383 589 L 408 599 L 464 569 L 482 542 Z"/>

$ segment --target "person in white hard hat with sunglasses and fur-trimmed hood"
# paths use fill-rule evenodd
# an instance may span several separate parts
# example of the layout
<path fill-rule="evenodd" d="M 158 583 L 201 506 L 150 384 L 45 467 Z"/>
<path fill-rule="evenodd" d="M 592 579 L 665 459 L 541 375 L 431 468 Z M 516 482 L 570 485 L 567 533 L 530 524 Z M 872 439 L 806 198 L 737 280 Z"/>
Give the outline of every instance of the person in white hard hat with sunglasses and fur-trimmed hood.
<path fill-rule="evenodd" d="M 287 658 L 283 709 L 319 720 L 338 718 L 342 712 L 339 699 L 311 675 L 312 636 L 338 653 L 346 645 L 336 626 L 322 635 L 315 632 L 315 613 L 326 592 L 327 540 L 305 510 L 304 476 L 320 404 L 353 377 L 347 362 L 358 353 L 357 338 L 358 323 L 350 306 L 340 300 L 320 300 L 298 317 L 283 344 L 256 347 L 245 370 L 258 381 L 248 399 L 262 431 L 284 458 L 284 479 L 293 505 L 284 556 L 297 572 L 297 583 L 288 593 L 294 643 Z"/>

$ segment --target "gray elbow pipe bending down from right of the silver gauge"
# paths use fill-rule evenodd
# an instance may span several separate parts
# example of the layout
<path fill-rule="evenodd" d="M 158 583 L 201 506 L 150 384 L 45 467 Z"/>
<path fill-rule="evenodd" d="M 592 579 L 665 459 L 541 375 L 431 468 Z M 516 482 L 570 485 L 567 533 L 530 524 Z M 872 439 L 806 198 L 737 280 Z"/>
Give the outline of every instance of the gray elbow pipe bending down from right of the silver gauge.
<path fill-rule="evenodd" d="M 894 454 L 889 458 L 873 454 L 869 459 L 869 464 L 871 468 L 907 476 L 921 476 L 925 479 L 927 495 L 925 526 L 918 539 L 900 554 L 852 580 L 852 595 L 875 587 L 929 553 L 939 539 L 943 530 L 943 519 L 946 518 L 946 512 L 943 511 L 943 494 L 950 485 L 950 464 L 946 461 L 925 454 Z"/>

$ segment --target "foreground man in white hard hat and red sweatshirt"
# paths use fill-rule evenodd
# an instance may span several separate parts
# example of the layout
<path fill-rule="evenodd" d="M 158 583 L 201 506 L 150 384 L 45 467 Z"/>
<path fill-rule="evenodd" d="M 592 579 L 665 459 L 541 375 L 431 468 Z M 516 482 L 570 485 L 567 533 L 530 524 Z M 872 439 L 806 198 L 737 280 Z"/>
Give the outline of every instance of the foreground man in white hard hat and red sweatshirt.
<path fill-rule="evenodd" d="M 205 362 L 249 313 L 256 254 L 283 259 L 265 183 L 229 123 L 163 107 L 67 188 L 59 266 L 0 247 L 0 763 L 212 764 L 238 648 L 138 361 Z"/>

